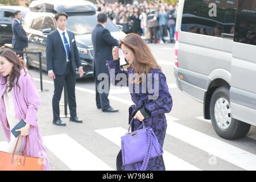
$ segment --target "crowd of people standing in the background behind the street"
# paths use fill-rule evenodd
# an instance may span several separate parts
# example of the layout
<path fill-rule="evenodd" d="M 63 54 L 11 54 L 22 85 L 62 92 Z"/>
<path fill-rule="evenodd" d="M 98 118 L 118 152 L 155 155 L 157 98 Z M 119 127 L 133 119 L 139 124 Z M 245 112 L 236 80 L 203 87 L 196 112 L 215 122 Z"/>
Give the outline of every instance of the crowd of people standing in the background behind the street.
<path fill-rule="evenodd" d="M 97 0 L 98 11 L 108 14 L 113 23 L 121 24 L 126 34 L 144 36 L 148 43 L 174 42 L 177 6 L 162 1 L 133 4 L 105 3 Z"/>

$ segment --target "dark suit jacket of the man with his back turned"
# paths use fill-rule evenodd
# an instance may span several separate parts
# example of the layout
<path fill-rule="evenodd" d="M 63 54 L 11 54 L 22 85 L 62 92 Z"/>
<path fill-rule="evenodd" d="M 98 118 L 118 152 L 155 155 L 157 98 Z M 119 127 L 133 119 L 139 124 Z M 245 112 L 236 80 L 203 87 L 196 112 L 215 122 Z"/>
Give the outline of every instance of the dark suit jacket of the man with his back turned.
<path fill-rule="evenodd" d="M 97 24 L 92 31 L 92 43 L 94 49 L 94 77 L 97 77 L 100 73 L 109 75 L 109 71 L 106 68 L 106 60 L 113 60 L 112 47 L 119 46 L 118 40 L 113 38 L 108 29 L 101 24 Z"/>

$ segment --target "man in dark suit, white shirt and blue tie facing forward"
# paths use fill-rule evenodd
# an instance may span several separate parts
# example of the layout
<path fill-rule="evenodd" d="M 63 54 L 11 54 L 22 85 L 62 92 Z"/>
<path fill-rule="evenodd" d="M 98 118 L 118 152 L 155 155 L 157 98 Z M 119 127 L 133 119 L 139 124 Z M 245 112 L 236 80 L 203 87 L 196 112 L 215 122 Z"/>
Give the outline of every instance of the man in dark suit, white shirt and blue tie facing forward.
<path fill-rule="evenodd" d="M 54 81 L 52 98 L 53 124 L 65 126 L 60 119 L 60 98 L 64 82 L 67 85 L 68 104 L 71 117 L 69 121 L 82 123 L 76 114 L 76 68 L 79 68 L 80 77 L 84 75 L 79 52 L 76 46 L 75 35 L 66 30 L 68 15 L 58 12 L 55 15 L 57 30 L 47 36 L 46 60 L 48 77 Z"/>

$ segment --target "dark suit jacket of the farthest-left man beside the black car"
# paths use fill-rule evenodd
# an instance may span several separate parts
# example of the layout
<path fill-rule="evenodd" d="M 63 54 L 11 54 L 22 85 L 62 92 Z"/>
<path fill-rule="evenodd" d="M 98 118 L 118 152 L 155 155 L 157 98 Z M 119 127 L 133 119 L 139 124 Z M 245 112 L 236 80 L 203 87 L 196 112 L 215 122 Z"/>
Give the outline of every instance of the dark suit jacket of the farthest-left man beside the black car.
<path fill-rule="evenodd" d="M 17 21 L 13 20 L 12 24 L 13 30 L 13 39 L 11 40 L 11 44 L 14 48 L 25 48 L 28 45 L 27 34 L 24 31 L 22 25 Z"/>

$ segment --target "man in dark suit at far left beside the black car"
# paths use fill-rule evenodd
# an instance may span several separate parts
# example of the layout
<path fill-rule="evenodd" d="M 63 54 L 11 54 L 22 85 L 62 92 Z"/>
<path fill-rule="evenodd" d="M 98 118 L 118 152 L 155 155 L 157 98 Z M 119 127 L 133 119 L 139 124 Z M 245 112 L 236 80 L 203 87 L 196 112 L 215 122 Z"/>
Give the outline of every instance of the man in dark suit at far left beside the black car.
<path fill-rule="evenodd" d="M 21 11 L 17 10 L 14 12 L 12 24 L 13 39 L 11 40 L 11 44 L 16 54 L 23 57 L 23 49 L 27 47 L 28 40 L 31 38 L 32 34 L 27 36 L 24 31 L 22 27 L 22 17 Z"/>

